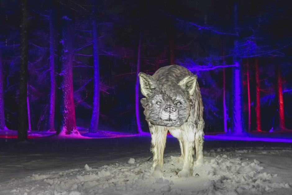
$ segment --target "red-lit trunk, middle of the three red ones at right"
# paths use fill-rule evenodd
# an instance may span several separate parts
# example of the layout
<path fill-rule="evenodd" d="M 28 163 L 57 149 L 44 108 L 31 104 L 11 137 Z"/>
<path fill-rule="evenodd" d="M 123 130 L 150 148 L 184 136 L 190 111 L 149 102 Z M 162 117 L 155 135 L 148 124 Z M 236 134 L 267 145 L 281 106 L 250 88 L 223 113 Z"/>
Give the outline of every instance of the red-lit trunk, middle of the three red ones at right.
<path fill-rule="evenodd" d="M 260 101 L 260 79 L 259 79 L 259 71 L 258 71 L 258 58 L 255 58 L 254 62 L 255 68 L 255 77 L 256 77 L 256 116 L 257 116 L 257 131 L 262 131 L 261 125 L 261 101 Z"/>

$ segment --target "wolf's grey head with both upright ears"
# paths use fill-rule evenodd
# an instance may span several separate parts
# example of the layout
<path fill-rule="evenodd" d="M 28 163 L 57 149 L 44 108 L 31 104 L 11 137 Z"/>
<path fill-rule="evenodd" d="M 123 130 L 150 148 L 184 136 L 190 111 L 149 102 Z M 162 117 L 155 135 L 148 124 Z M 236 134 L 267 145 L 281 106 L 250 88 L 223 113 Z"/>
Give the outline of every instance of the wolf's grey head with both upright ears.
<path fill-rule="evenodd" d="M 187 122 L 192 109 L 197 75 L 189 75 L 179 83 L 158 82 L 154 77 L 139 73 L 141 99 L 146 120 L 153 125 L 178 127 Z"/>

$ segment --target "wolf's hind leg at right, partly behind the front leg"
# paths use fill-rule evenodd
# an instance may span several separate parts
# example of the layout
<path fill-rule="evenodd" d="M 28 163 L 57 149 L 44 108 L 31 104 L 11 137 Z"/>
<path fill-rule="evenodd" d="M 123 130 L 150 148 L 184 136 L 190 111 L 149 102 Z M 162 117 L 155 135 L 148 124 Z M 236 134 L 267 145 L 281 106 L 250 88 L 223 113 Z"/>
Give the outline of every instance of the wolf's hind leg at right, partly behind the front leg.
<path fill-rule="evenodd" d="M 196 164 L 204 163 L 204 155 L 203 155 L 203 144 L 204 144 L 204 132 L 203 132 L 204 124 L 198 125 L 198 132 L 196 132 L 195 137 L 195 145 L 196 145 Z"/>

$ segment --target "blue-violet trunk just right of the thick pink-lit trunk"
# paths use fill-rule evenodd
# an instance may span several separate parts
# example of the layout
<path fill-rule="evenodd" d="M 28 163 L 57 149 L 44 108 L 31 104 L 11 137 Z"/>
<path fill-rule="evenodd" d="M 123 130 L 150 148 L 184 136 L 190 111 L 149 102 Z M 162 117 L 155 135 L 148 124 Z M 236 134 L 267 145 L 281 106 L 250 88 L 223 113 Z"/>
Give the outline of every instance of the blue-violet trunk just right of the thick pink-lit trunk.
<path fill-rule="evenodd" d="M 98 62 L 98 32 L 97 32 L 97 0 L 93 0 L 92 7 L 92 37 L 93 37 L 93 67 L 94 67 L 94 94 L 93 94 L 93 112 L 91 116 L 89 132 L 95 133 L 98 131 L 99 118 L 99 62 Z"/>

